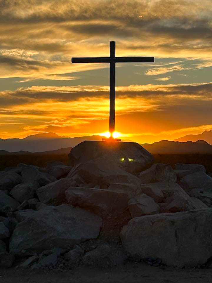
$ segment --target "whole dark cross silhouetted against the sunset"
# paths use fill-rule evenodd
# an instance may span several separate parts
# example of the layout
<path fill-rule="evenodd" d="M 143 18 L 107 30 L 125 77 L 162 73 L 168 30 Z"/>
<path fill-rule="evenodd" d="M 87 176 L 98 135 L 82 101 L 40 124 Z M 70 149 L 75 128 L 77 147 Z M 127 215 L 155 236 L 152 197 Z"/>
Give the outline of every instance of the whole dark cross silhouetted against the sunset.
<path fill-rule="evenodd" d="M 110 41 L 110 57 L 81 57 L 72 58 L 72 63 L 110 63 L 110 119 L 109 131 L 115 131 L 115 63 L 154 62 L 154 57 L 116 57 L 115 41 Z"/>

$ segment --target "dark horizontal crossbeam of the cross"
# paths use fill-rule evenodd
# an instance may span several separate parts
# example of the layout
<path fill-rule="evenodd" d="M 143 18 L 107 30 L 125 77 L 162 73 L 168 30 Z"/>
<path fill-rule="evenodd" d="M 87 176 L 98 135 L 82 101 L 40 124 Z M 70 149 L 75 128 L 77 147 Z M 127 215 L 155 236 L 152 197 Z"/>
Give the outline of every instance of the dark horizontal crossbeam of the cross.
<path fill-rule="evenodd" d="M 78 57 L 72 58 L 72 63 L 150 63 L 154 62 L 154 57 Z"/>

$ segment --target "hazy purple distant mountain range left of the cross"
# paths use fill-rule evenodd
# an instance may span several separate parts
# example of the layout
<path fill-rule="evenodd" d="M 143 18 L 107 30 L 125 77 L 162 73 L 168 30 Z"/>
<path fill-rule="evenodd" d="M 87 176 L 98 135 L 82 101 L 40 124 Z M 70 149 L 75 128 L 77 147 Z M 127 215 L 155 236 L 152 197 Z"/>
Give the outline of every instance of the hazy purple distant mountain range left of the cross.
<path fill-rule="evenodd" d="M 82 141 L 101 141 L 102 136 L 80 136 L 69 138 L 55 133 L 44 133 L 27 136 L 24 139 L 0 139 L 0 150 L 8 152 L 46 152 L 67 147 L 75 147 Z M 0 152 L 1 154 L 1 152 Z"/>

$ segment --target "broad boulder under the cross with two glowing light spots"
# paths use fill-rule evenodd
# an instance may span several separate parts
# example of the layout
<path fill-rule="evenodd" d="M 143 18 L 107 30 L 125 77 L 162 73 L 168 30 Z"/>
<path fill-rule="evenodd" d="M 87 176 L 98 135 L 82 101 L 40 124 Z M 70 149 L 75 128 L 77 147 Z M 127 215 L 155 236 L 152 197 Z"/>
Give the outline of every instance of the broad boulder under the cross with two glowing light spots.
<path fill-rule="evenodd" d="M 150 166 L 153 156 L 135 142 L 83 141 L 72 148 L 69 154 L 70 165 L 102 159 L 117 165 L 123 170 L 136 173 Z"/>

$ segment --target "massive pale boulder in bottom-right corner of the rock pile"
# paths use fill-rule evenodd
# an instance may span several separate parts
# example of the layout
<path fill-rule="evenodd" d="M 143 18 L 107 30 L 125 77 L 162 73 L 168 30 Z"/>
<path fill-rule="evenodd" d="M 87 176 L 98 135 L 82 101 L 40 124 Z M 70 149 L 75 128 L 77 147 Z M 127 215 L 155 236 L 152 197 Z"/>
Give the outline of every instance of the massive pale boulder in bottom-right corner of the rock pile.
<path fill-rule="evenodd" d="M 121 232 L 132 257 L 158 257 L 164 264 L 197 266 L 212 256 L 212 208 L 133 218 Z"/>

